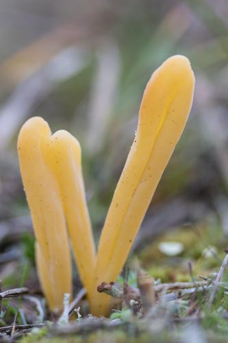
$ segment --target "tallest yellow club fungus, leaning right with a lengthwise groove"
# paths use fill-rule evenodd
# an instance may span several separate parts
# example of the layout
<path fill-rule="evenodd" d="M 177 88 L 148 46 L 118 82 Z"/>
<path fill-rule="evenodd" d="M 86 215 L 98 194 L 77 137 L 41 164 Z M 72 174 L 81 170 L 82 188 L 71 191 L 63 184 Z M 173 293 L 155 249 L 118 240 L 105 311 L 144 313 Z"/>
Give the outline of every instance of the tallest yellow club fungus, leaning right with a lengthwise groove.
<path fill-rule="evenodd" d="M 107 311 L 109 297 L 95 291 L 115 281 L 129 255 L 153 193 L 181 137 L 192 106 L 194 74 L 188 58 L 173 56 L 147 84 L 138 128 L 107 213 L 94 273 L 92 314 Z"/>

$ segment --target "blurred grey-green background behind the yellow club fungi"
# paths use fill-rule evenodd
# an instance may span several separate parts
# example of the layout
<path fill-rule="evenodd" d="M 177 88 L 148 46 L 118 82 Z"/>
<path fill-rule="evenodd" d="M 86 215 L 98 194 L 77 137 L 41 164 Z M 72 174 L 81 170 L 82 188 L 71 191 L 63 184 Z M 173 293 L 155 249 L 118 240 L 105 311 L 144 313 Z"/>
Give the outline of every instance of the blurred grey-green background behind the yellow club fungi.
<path fill-rule="evenodd" d="M 175 54 L 192 64 L 194 105 L 134 251 L 149 269 L 163 261 L 151 274 L 163 273 L 164 279 L 177 279 L 164 273 L 167 263 L 183 265 L 187 274 L 186 261 L 196 273 L 220 263 L 228 235 L 227 18 L 227 0 L 1 0 L 0 272 L 5 285 L 18 285 L 12 280 L 18 263 L 25 270 L 25 259 L 34 259 L 16 156 L 22 124 L 40 115 L 53 132 L 66 129 L 79 139 L 97 240 L 134 138 L 144 87 Z M 155 239 L 181 242 L 178 258 L 159 250 Z M 216 257 L 205 256 L 210 247 Z"/>

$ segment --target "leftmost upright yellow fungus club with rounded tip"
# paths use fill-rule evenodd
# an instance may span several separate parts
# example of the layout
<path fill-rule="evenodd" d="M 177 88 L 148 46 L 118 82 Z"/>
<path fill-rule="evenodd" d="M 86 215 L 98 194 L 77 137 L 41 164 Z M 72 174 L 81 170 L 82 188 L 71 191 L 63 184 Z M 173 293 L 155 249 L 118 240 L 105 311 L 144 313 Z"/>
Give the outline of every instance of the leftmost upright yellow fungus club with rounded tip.
<path fill-rule="evenodd" d="M 64 293 L 72 294 L 72 272 L 60 188 L 42 152 L 42 145 L 50 137 L 46 121 L 40 117 L 29 119 L 18 137 L 18 156 L 37 240 L 40 283 L 51 309 L 60 311 Z"/>

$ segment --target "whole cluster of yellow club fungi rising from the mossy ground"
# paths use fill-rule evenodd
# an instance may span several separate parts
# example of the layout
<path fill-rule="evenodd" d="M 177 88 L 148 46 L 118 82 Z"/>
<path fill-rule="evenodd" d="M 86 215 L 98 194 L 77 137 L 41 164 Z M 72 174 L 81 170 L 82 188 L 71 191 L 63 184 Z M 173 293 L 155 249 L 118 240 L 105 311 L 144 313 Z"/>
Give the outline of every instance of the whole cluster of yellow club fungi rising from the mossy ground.
<path fill-rule="evenodd" d="M 97 292 L 97 285 L 115 281 L 121 272 L 186 125 L 193 93 L 194 74 L 184 56 L 168 58 L 151 76 L 97 254 L 77 139 L 64 130 L 51 135 L 41 117 L 29 119 L 21 128 L 21 176 L 36 236 L 38 275 L 52 311 L 61 311 L 64 294 L 72 294 L 70 237 L 90 311 L 96 316 L 107 314 L 110 298 Z"/>

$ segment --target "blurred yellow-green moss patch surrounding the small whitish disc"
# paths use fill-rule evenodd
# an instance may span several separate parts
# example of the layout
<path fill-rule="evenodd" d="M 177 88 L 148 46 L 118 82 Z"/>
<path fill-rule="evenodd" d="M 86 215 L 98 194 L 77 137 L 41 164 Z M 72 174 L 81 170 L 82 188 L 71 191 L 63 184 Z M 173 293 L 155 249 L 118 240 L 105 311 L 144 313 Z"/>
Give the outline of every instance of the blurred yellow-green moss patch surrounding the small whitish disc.
<path fill-rule="evenodd" d="M 227 246 L 227 241 L 221 237 L 223 230 L 216 216 L 211 215 L 195 227 L 181 227 L 164 233 L 142 248 L 138 257 L 142 268 L 147 269 L 155 279 L 161 279 L 162 282 L 189 281 L 192 277 L 189 265 L 194 276 L 208 276 L 218 270 Z M 180 242 L 184 247 L 183 252 L 175 257 L 164 255 L 159 250 L 162 241 Z"/>

